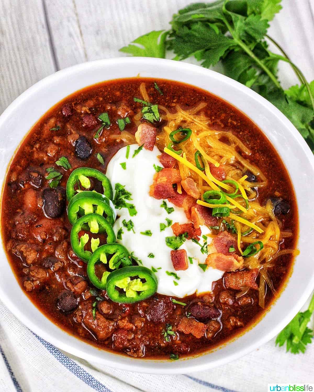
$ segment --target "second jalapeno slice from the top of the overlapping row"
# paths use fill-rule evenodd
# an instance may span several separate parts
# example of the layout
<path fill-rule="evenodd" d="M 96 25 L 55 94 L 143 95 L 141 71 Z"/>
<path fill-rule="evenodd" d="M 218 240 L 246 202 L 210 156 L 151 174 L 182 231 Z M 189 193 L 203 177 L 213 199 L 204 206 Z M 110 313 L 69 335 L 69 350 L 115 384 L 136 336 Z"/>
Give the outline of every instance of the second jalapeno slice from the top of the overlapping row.
<path fill-rule="evenodd" d="M 71 198 L 68 205 L 68 218 L 72 225 L 82 215 L 93 214 L 105 215 L 106 220 L 113 226 L 117 214 L 115 207 L 108 197 L 94 191 L 82 191 Z"/>

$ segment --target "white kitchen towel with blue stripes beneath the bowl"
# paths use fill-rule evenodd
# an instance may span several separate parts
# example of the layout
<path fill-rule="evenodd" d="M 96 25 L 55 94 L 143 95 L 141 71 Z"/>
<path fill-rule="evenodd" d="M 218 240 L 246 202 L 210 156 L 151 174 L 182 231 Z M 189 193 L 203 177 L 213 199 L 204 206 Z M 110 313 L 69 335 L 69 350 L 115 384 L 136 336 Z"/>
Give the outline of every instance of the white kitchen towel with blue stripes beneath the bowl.
<path fill-rule="evenodd" d="M 267 383 L 314 383 L 314 343 L 305 354 L 294 355 L 272 339 L 243 358 L 204 372 L 140 374 L 62 352 L 22 325 L 1 302 L 0 352 L 0 392 L 262 392 Z"/>

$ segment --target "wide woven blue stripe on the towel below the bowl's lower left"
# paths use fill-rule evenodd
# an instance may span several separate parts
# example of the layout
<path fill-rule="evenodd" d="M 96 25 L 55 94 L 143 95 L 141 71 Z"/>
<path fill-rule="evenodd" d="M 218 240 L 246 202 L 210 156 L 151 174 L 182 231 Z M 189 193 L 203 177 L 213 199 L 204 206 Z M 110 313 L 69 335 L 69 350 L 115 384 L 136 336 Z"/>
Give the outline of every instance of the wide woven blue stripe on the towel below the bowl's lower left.
<path fill-rule="evenodd" d="M 77 376 L 80 380 L 84 381 L 89 387 L 97 390 L 97 392 L 111 392 L 106 385 L 100 383 L 95 377 L 86 372 L 82 367 L 77 365 L 71 358 L 64 355 L 57 347 L 48 343 L 46 340 L 40 338 L 38 335 L 34 334 L 36 338 L 44 345 L 47 350 L 60 362 L 64 367 L 66 367 L 71 373 Z"/>

